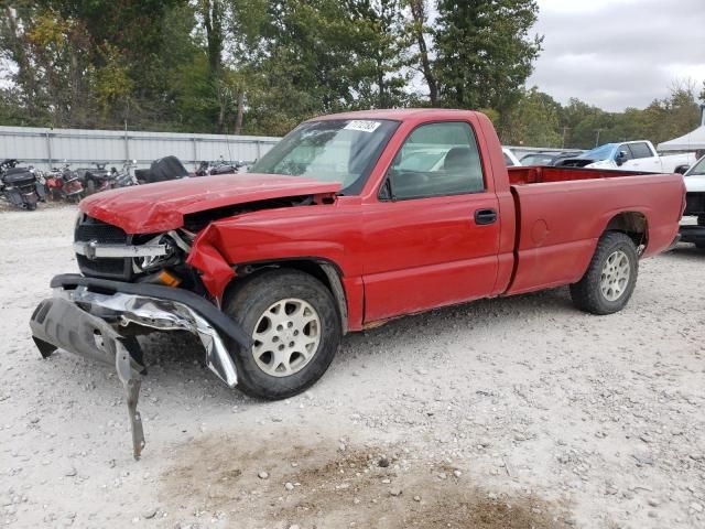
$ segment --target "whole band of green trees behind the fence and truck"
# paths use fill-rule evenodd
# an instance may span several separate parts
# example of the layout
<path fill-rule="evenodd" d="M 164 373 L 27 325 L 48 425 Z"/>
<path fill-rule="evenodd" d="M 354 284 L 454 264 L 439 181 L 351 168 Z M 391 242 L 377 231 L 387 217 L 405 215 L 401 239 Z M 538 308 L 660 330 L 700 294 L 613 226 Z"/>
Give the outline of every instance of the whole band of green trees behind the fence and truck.
<path fill-rule="evenodd" d="M 506 143 L 590 148 L 697 123 L 692 83 L 617 114 L 524 88 L 536 12 L 535 0 L 6 0 L 0 125 L 281 136 L 322 114 L 442 106 L 482 109 Z"/>

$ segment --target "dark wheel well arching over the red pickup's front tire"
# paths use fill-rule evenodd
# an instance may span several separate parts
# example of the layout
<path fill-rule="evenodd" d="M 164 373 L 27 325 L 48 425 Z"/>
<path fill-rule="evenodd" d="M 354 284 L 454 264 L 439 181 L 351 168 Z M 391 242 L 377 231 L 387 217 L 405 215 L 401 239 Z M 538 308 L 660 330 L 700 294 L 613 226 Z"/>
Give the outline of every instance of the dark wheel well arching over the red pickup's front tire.
<path fill-rule="evenodd" d="M 299 270 L 301 272 L 313 276 L 321 281 L 326 289 L 330 291 L 333 298 L 338 306 L 338 313 L 340 315 L 340 328 L 346 334 L 348 330 L 348 305 L 345 295 L 345 289 L 343 288 L 341 277 L 339 268 L 330 261 L 323 259 L 290 259 L 290 260 L 274 260 L 257 263 L 240 264 L 237 267 L 237 276 L 228 285 L 228 292 L 226 295 L 231 295 L 234 289 L 241 288 L 250 279 L 262 273 L 265 270 L 273 268 L 290 268 Z"/>

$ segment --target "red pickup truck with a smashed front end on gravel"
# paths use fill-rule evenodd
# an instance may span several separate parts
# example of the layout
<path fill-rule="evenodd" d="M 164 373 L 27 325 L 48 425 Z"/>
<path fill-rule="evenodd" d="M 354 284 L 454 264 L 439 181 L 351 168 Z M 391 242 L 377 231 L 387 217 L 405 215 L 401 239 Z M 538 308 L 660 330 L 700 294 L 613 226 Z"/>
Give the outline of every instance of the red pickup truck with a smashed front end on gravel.
<path fill-rule="evenodd" d="M 137 336 L 153 331 L 194 333 L 226 384 L 281 399 L 325 373 L 345 333 L 404 314 L 564 284 L 583 311 L 619 311 L 683 207 L 675 174 L 508 170 L 481 114 L 326 116 L 249 174 L 84 199 L 82 274 L 52 280 L 31 327 L 44 356 L 117 363 L 132 415 Z"/>

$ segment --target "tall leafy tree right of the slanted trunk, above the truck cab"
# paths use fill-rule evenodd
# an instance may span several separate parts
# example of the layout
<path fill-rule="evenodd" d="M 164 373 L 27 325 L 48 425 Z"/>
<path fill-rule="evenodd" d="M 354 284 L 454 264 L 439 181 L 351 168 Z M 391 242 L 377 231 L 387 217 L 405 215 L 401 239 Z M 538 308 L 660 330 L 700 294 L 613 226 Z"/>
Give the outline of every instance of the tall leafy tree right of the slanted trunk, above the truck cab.
<path fill-rule="evenodd" d="M 535 0 L 440 0 L 435 72 L 442 104 L 510 109 L 532 72 L 542 37 L 529 37 Z"/>

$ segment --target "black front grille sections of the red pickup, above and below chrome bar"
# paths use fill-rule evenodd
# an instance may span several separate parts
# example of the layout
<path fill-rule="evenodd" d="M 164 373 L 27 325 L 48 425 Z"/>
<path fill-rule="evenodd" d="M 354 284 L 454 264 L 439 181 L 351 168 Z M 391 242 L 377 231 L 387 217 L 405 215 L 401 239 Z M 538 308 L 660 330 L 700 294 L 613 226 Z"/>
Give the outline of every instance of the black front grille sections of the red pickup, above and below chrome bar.
<path fill-rule="evenodd" d="M 119 227 L 87 215 L 80 218 L 74 233 L 74 240 L 80 242 L 95 240 L 98 244 L 129 245 L 132 236 Z M 88 259 L 86 256 L 76 255 L 76 260 L 82 273 L 87 277 L 122 281 L 129 281 L 132 277 L 132 260 L 130 258 Z"/>

